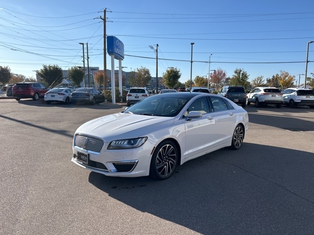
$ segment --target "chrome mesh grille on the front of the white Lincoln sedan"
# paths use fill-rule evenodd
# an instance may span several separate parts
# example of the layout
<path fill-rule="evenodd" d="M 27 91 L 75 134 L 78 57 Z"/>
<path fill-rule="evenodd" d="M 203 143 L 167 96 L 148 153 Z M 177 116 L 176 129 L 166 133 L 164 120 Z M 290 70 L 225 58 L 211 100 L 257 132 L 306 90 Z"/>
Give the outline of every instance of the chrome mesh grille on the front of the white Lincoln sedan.
<path fill-rule="evenodd" d="M 104 146 L 104 141 L 91 136 L 75 135 L 74 146 L 78 146 L 86 151 L 100 153 Z"/>

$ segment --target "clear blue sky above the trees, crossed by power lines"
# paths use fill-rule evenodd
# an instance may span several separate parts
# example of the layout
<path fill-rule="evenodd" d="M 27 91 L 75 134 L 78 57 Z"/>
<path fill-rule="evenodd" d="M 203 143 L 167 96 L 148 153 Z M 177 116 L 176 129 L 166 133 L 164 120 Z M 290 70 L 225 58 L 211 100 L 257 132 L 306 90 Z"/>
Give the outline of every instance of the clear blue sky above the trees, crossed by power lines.
<path fill-rule="evenodd" d="M 82 66 L 79 43 L 88 43 L 89 66 L 102 70 L 99 18 L 105 8 L 106 34 L 124 43 L 124 71 L 145 67 L 155 77 L 156 54 L 149 46 L 158 44 L 158 76 L 177 67 L 181 82 L 190 79 L 191 43 L 192 79 L 208 76 L 212 54 L 210 70 L 220 68 L 231 77 L 239 68 L 252 80 L 280 71 L 298 79 L 305 73 L 307 43 L 314 41 L 313 0 L 1 0 L 0 8 L 0 66 L 26 77 L 35 77 L 43 64 L 63 70 Z M 308 76 L 311 72 L 310 62 Z"/>

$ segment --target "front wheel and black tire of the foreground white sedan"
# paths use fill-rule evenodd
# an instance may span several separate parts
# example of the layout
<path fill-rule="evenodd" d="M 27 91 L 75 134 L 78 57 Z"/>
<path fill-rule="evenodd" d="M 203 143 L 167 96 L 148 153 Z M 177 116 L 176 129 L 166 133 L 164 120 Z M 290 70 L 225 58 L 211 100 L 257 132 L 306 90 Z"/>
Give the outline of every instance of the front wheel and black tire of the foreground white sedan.
<path fill-rule="evenodd" d="M 155 149 L 150 166 L 150 176 L 157 180 L 169 178 L 179 160 L 177 146 L 172 141 L 163 141 Z"/>

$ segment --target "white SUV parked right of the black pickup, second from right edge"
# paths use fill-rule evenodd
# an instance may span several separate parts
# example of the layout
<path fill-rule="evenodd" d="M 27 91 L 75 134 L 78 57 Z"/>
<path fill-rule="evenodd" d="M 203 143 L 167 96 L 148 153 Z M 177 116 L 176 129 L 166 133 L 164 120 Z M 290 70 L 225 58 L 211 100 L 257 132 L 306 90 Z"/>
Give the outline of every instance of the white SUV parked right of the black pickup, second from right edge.
<path fill-rule="evenodd" d="M 246 104 L 255 103 L 256 107 L 273 104 L 281 108 L 284 98 L 282 92 L 275 87 L 257 87 L 246 95 Z"/>

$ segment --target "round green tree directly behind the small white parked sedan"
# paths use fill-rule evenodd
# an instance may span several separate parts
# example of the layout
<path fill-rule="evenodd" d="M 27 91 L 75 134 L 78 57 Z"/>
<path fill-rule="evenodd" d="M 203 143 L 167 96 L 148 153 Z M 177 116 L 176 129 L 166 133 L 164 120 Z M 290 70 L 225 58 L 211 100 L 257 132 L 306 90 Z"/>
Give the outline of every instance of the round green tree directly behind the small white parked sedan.
<path fill-rule="evenodd" d="M 63 79 L 62 69 L 57 65 L 43 65 L 37 73 L 49 87 L 55 86 Z"/>

